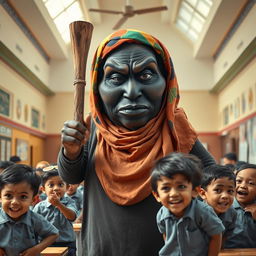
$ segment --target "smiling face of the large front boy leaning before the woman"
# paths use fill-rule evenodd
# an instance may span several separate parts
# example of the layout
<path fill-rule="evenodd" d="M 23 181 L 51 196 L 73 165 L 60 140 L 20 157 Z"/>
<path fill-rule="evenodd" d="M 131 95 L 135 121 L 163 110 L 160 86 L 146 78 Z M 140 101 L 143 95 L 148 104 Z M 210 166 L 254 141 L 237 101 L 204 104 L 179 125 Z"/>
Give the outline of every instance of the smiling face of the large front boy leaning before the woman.
<path fill-rule="evenodd" d="M 157 182 L 157 192 L 153 192 L 156 200 L 169 209 L 176 217 L 182 217 L 187 206 L 196 196 L 192 183 L 182 174 L 175 174 L 172 178 L 162 176 Z"/>

